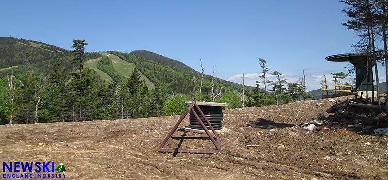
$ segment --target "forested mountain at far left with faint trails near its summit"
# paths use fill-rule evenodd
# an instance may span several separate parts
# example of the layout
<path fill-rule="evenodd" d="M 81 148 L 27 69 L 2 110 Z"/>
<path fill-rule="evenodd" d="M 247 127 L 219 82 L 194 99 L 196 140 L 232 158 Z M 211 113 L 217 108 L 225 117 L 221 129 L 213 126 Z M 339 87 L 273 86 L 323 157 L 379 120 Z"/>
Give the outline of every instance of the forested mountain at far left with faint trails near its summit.
<path fill-rule="evenodd" d="M 86 53 L 87 58 L 97 58 L 100 53 Z M 46 43 L 0 37 L 0 75 L 14 72 L 35 72 L 40 76 L 48 75 L 50 61 L 56 59 L 66 71 L 73 69 L 70 51 Z"/>

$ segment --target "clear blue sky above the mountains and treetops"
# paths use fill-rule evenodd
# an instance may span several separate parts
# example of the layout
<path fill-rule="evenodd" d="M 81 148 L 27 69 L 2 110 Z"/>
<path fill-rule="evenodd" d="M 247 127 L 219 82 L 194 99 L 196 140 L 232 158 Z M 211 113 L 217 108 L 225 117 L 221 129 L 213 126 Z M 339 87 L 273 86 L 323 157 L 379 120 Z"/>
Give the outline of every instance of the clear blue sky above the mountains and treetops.
<path fill-rule="evenodd" d="M 357 41 L 341 25 L 338 0 L 1 0 L 0 36 L 70 49 L 86 39 L 88 52 L 148 50 L 205 73 L 248 85 L 268 61 L 291 82 L 306 72 L 307 90 L 347 63 L 326 56 L 352 52 Z M 381 70 L 382 71 L 382 68 Z M 381 74 L 382 76 L 383 74 Z"/>

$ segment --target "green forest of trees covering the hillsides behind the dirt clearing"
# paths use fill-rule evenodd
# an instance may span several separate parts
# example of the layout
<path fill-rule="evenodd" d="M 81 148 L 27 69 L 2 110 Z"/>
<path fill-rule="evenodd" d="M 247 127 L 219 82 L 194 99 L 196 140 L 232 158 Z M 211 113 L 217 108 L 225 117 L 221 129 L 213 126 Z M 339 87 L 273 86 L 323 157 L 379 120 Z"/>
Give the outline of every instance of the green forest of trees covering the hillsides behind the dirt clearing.
<path fill-rule="evenodd" d="M 270 72 L 261 58 L 258 67 L 263 75 L 258 78 L 263 81 L 258 81 L 256 87 L 242 87 L 218 79 L 214 73 L 202 76 L 183 63 L 174 65 L 174 60 L 147 54 L 148 51 L 140 55 L 117 51 L 86 53 L 85 40 L 73 40 L 71 51 L 17 38 L 0 41 L 4 42 L 0 45 L 1 124 L 178 115 L 186 108 L 184 102 L 193 99 L 229 103 L 227 108 L 234 109 L 310 98 L 303 77 L 289 83 L 282 73 Z M 114 69 L 109 54 L 135 65 L 128 78 Z M 84 67 L 90 59 L 98 59 L 97 68 L 113 81 L 107 82 L 95 70 Z M 268 81 L 269 74 L 277 80 Z M 153 83 L 152 88 L 141 75 Z"/>

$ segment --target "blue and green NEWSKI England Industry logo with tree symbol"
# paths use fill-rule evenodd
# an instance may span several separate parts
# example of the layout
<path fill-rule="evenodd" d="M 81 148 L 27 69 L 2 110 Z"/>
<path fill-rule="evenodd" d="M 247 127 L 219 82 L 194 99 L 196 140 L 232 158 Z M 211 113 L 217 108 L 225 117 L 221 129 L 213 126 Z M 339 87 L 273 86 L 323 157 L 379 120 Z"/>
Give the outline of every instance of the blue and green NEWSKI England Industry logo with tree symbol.
<path fill-rule="evenodd" d="M 58 171 L 60 174 L 57 174 Z M 63 163 L 55 168 L 53 161 L 48 162 L 3 162 L 2 178 L 65 178 Z M 34 174 L 31 174 L 34 172 Z M 40 174 L 35 174 L 40 173 Z"/>

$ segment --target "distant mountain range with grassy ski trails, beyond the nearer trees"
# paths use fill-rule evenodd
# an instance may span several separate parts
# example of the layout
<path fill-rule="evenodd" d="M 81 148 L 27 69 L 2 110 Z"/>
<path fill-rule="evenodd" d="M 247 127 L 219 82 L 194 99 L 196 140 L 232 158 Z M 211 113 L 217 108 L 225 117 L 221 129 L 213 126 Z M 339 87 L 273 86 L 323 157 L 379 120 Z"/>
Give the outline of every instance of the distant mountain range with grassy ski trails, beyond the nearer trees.
<path fill-rule="evenodd" d="M 86 46 L 87 48 L 87 46 Z M 122 53 L 115 51 L 85 53 L 85 68 L 93 70 L 93 73 L 102 79 L 110 82 L 113 79 L 125 80 L 131 75 L 134 68 L 142 74 L 142 79 L 152 88 L 155 83 L 162 83 L 162 86 L 169 93 L 193 92 L 193 79 L 195 90 L 199 89 L 201 73 L 182 62 L 173 60 L 162 55 L 146 50 Z M 110 68 L 98 66 L 103 57 L 107 57 Z M 51 69 L 50 62 L 57 59 L 60 66 L 64 67 L 70 78 L 74 72 L 72 64 L 73 55 L 69 50 L 49 45 L 46 43 L 10 37 L 0 37 L 0 75 L 13 73 L 16 75 L 25 72 L 35 72 L 35 74 L 47 78 Z M 108 69 L 111 69 L 108 71 Z M 113 77 L 114 76 L 114 77 Z M 242 85 L 229 82 L 223 79 L 215 79 L 215 91 L 233 90 L 234 93 L 242 91 Z M 202 92 L 210 94 L 211 76 L 204 75 Z M 246 86 L 246 93 L 249 94 L 253 87 Z"/>

